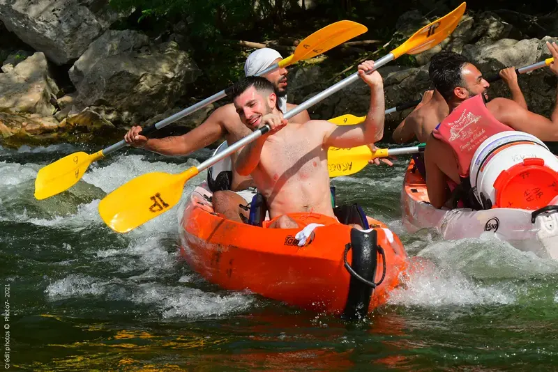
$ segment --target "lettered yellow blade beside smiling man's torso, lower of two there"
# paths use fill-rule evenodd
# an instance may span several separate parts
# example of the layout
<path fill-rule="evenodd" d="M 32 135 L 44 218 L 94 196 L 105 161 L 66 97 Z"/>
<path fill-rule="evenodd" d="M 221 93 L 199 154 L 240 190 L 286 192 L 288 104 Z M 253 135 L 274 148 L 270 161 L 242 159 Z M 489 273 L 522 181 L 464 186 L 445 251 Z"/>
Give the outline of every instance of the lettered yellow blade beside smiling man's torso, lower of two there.
<path fill-rule="evenodd" d="M 368 160 L 372 160 L 372 151 L 368 146 L 354 148 L 330 147 L 327 151 L 327 167 L 330 177 L 349 176 L 361 171 Z"/>

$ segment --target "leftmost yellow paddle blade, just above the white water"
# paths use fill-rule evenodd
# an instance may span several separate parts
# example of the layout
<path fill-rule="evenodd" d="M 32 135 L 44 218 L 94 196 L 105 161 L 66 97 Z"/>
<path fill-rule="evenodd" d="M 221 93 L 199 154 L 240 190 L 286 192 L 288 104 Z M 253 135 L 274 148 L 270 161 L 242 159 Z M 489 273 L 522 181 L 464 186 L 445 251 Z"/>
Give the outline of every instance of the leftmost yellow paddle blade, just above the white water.
<path fill-rule="evenodd" d="M 66 191 L 82 178 L 91 162 L 103 157 L 98 151 L 93 155 L 79 152 L 65 156 L 52 164 L 43 166 L 35 180 L 35 198 L 38 200 Z"/>

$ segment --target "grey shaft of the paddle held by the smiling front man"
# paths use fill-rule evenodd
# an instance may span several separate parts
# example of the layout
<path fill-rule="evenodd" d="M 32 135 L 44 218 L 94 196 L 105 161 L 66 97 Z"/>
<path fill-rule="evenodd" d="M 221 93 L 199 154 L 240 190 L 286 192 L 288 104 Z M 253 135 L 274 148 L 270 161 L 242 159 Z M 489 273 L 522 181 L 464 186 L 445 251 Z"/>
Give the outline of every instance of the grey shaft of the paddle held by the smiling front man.
<path fill-rule="evenodd" d="M 387 54 L 386 56 L 383 56 L 381 59 L 378 59 L 377 61 L 374 62 L 374 70 L 377 70 L 378 68 L 382 67 L 386 63 L 389 63 L 390 61 L 393 61 L 393 59 L 395 59 L 395 56 L 393 56 L 393 54 L 391 54 L 391 53 Z M 371 74 L 374 70 L 372 70 L 368 73 Z M 359 79 L 359 72 L 354 72 L 351 76 L 349 76 L 345 79 L 342 79 L 337 84 L 333 84 L 332 86 L 327 88 L 325 91 L 322 91 L 321 93 L 318 93 L 314 97 L 310 98 L 310 100 L 307 100 L 307 101 L 299 104 L 294 109 L 288 111 L 287 114 L 285 114 L 283 116 L 283 118 L 288 120 L 289 118 L 292 118 L 293 116 L 296 116 L 296 115 L 300 114 L 302 111 L 312 107 L 312 105 L 317 104 L 317 102 L 320 102 L 321 100 L 324 100 L 325 98 L 328 98 L 333 93 L 340 91 L 342 88 L 345 88 L 345 86 L 349 86 L 350 84 L 356 82 L 356 80 L 358 80 L 358 79 Z M 250 142 L 252 142 L 252 141 L 255 141 L 257 138 L 261 137 L 263 134 L 266 134 L 267 132 L 269 132 L 269 130 L 270 130 L 270 128 L 267 125 L 264 125 L 263 127 L 255 130 L 254 132 L 252 132 L 248 136 L 244 137 L 240 141 L 236 141 L 234 144 L 227 147 L 227 149 L 225 151 L 222 151 L 222 152 L 220 152 L 216 155 L 213 155 L 212 157 L 210 157 L 208 160 L 206 160 L 202 164 L 199 164 L 198 166 L 196 166 L 198 173 L 201 172 L 201 171 L 204 171 L 204 169 L 209 168 L 213 164 L 216 164 L 220 160 L 225 159 L 225 157 L 227 157 L 227 156 L 231 155 L 232 153 L 236 152 L 241 147 L 246 146 L 247 144 L 250 144 Z"/>

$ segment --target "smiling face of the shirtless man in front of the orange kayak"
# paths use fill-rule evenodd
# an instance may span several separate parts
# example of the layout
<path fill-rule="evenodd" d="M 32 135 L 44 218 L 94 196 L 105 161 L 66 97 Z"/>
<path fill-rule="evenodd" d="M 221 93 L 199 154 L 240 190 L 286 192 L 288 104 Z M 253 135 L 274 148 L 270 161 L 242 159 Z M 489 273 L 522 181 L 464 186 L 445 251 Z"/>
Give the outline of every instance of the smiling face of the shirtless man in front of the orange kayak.
<path fill-rule="evenodd" d="M 276 100 L 275 93 L 257 91 L 254 86 L 250 86 L 234 98 L 233 103 L 242 123 L 250 130 L 256 130 L 262 123 L 262 117 L 271 114 L 271 107 L 275 107 Z"/>

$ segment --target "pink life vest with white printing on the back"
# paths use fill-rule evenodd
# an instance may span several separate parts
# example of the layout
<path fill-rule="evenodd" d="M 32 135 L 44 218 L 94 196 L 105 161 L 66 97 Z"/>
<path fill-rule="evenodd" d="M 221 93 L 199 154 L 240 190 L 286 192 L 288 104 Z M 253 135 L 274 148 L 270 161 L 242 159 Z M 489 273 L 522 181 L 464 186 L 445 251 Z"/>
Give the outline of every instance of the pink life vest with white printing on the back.
<path fill-rule="evenodd" d="M 483 100 L 483 95 L 475 95 L 463 101 L 439 123 L 432 134 L 435 138 L 451 146 L 458 160 L 459 176 L 469 177 L 471 160 L 483 141 L 494 134 L 513 130 L 500 123 L 490 114 Z"/>

